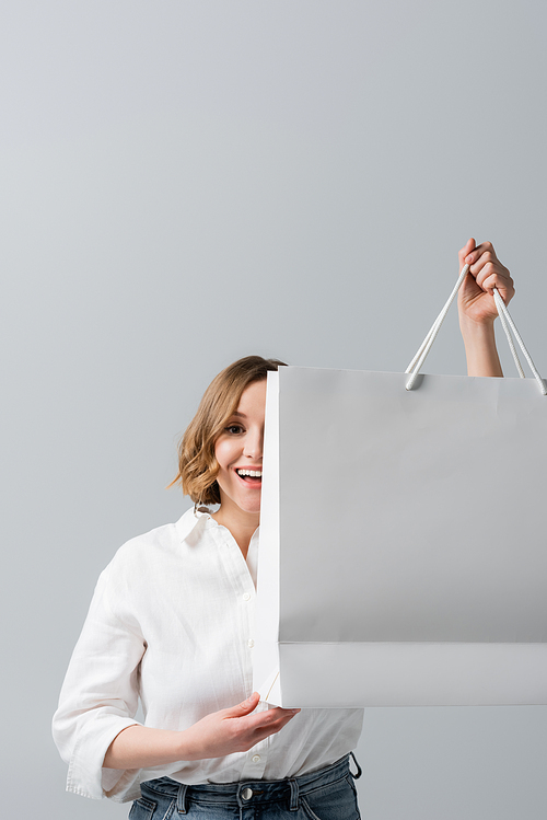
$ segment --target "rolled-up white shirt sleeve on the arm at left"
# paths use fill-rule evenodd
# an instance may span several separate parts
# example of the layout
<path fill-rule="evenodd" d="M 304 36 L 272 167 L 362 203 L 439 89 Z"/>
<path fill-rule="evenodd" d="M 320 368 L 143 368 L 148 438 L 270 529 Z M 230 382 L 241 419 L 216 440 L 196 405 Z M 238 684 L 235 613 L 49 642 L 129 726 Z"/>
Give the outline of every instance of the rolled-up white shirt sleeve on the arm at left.
<path fill-rule="evenodd" d="M 137 620 L 127 608 L 119 614 L 109 604 L 113 565 L 98 579 L 53 721 L 54 740 L 69 764 L 67 790 L 92 798 L 113 797 L 135 774 L 103 766 L 116 735 L 139 723 L 139 665 L 146 650 Z"/>

